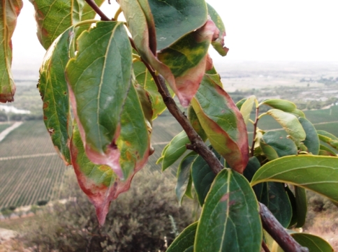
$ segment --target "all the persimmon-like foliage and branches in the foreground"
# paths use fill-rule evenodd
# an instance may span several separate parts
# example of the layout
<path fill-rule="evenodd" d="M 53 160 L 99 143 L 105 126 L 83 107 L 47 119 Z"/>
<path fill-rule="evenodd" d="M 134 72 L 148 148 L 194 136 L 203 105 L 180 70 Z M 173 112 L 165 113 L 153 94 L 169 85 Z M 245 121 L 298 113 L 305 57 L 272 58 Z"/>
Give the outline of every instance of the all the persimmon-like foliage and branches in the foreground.
<path fill-rule="evenodd" d="M 274 240 L 284 251 L 307 251 L 301 245 L 315 251 L 313 244 L 325 244 L 304 234 L 293 239 L 284 228 L 304 224 L 304 189 L 337 205 L 337 155 L 321 142 L 338 149 L 338 138 L 317 132 L 289 101 L 259 103 L 251 96 L 233 102 L 208 54 L 210 45 L 227 54 L 224 24 L 205 0 L 119 0 L 114 19 L 98 8 L 101 0 L 31 2 L 47 50 L 38 84 L 45 125 L 100 225 L 153 153 L 152 120 L 166 105 L 184 131 L 158 163 L 165 170 L 191 150 L 179 165 L 176 193 L 180 203 L 195 191 L 202 207 L 199 221 L 172 245 L 175 251 L 260 251 L 262 242 L 276 251 Z M 1 102 L 13 101 L 10 38 L 21 7 L 15 0 L 0 7 Z M 126 22 L 117 20 L 120 11 Z M 95 13 L 101 21 L 91 20 Z M 262 105 L 271 109 L 260 113 Z M 258 128 L 266 116 L 284 131 Z M 252 142 L 247 124 L 254 125 Z"/>

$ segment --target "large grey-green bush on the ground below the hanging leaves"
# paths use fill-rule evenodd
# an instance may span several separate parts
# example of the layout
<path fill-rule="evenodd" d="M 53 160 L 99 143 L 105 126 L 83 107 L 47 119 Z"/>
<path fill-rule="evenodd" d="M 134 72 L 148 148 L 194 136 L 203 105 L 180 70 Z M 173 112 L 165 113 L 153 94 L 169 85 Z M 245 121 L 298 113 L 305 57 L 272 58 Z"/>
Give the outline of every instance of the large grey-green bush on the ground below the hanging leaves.
<path fill-rule="evenodd" d="M 175 233 L 193 221 L 192 207 L 179 207 L 172 193 L 175 184 L 165 175 L 145 169 L 135 175 L 138 178 L 131 189 L 112 202 L 102 228 L 75 176 L 66 172 L 61 195 L 69 200 L 54 204 L 52 210 L 45 208 L 38 221 L 27 225 L 22 239 L 36 251 L 165 250 Z"/>

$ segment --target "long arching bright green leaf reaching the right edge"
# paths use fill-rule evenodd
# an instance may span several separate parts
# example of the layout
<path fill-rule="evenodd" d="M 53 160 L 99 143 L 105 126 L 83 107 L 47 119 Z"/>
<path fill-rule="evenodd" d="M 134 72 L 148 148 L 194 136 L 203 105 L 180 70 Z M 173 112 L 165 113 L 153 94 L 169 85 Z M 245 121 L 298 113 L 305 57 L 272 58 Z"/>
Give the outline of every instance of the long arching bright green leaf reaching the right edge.
<path fill-rule="evenodd" d="M 251 186 L 279 181 L 300 186 L 338 202 L 338 158 L 330 156 L 285 156 L 263 165 Z"/>

